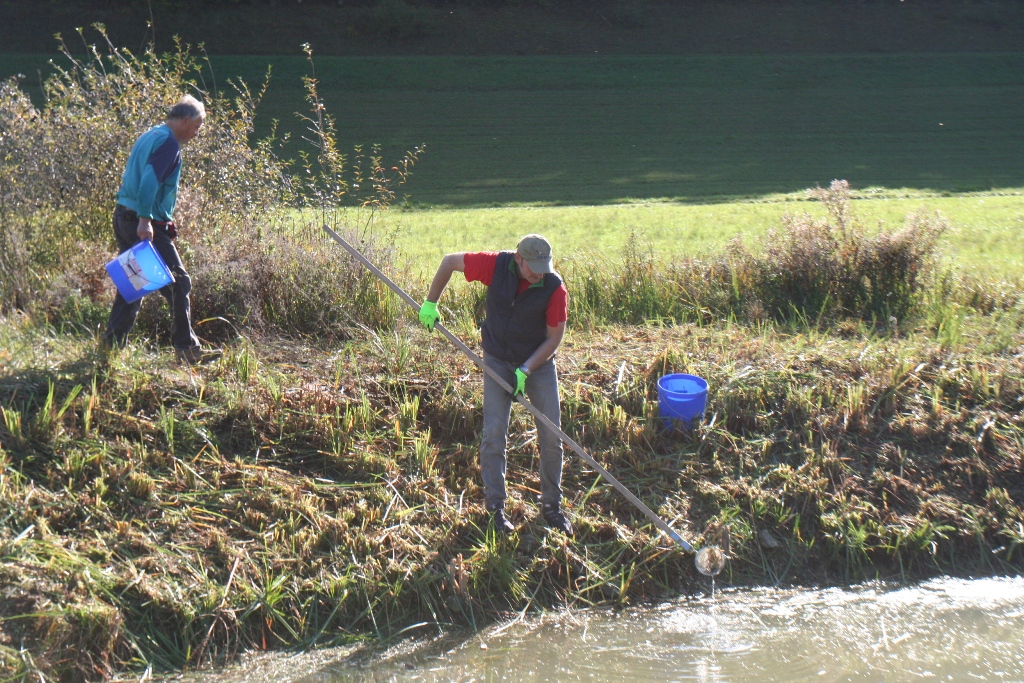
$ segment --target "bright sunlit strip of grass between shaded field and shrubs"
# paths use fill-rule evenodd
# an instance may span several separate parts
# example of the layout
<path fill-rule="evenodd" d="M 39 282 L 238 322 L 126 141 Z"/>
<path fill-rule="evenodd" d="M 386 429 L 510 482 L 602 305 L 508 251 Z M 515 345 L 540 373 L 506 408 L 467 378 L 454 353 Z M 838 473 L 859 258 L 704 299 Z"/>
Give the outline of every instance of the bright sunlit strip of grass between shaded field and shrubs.
<path fill-rule="evenodd" d="M 1024 191 L 1004 196 L 862 198 L 853 202 L 868 230 L 895 228 L 915 211 L 939 212 L 949 222 L 940 242 L 943 262 L 986 280 L 1017 281 L 1024 273 Z M 635 233 L 659 258 L 721 254 L 731 240 L 756 248 L 785 213 L 823 216 L 817 202 L 798 196 L 719 204 L 637 203 L 577 207 L 390 211 L 394 231 L 413 269 L 429 274 L 450 251 L 512 248 L 527 232 L 548 237 L 559 259 L 617 262 Z M 354 222 L 354 221 L 353 221 Z"/>

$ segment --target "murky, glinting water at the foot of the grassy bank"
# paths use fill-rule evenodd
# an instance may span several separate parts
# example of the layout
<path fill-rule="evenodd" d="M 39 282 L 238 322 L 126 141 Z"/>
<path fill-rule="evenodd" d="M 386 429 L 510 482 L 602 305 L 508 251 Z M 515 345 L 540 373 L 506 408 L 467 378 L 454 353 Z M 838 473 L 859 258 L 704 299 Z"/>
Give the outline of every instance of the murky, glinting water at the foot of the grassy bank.
<path fill-rule="evenodd" d="M 483 632 L 270 657 L 241 681 L 1024 681 L 1024 579 L 735 589 Z M 218 677 L 220 681 L 231 676 Z"/>

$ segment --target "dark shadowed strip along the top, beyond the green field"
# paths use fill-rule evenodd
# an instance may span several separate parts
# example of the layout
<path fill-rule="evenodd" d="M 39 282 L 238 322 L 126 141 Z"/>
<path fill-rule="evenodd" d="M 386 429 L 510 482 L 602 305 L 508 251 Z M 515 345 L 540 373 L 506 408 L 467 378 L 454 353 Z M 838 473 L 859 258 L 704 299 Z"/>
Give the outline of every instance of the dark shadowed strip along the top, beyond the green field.
<path fill-rule="evenodd" d="M 100 22 L 116 44 L 210 53 L 681 54 L 1016 51 L 1019 2 L 957 0 L 0 0 L 0 48 L 50 52 Z"/>

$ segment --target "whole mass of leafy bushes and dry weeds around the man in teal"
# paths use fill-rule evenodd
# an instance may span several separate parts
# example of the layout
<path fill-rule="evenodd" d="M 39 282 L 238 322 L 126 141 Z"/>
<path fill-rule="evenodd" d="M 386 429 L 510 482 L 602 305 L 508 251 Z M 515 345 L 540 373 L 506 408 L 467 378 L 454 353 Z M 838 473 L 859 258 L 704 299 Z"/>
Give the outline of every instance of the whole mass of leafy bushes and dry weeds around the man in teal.
<path fill-rule="evenodd" d="M 187 46 L 136 56 L 96 29 L 104 49 L 93 46 L 87 58 L 61 44 L 62 66 L 45 84 L 42 109 L 17 80 L 0 85 L 0 311 L 59 318 L 66 300 L 113 297 L 101 266 L 113 255 L 113 198 L 128 153 L 168 104 L 193 92 L 207 104 L 207 125 L 184 153 L 175 218 L 197 318 L 226 315 L 292 334 L 388 319 L 387 296 L 326 246 L 318 226 L 357 234 L 387 265 L 390 250 L 370 229 L 373 214 L 394 199 L 417 153 L 385 166 L 376 147 L 339 152 L 313 71 L 305 79 L 311 114 L 303 117 L 312 146 L 291 162 L 272 135 L 250 142 L 263 90 L 241 82 L 230 97 L 204 90 L 202 65 Z M 369 211 L 353 217 L 345 209 L 352 206 Z M 295 229 L 288 208 L 306 229 Z"/>

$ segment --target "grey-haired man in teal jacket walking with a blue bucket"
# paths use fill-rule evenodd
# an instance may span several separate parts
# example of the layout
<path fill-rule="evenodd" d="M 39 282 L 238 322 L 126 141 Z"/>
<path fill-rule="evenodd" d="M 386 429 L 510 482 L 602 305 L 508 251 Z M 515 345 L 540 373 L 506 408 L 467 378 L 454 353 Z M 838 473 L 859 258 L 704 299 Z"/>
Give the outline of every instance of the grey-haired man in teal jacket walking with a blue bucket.
<path fill-rule="evenodd" d="M 188 365 L 216 355 L 203 351 L 193 331 L 188 298 L 191 279 L 174 247 L 177 230 L 173 216 L 181 175 L 181 147 L 199 134 L 205 119 L 203 102 L 185 95 L 171 108 L 163 124 L 142 133 L 128 156 L 114 209 L 114 237 L 119 252 L 131 249 L 140 240 L 151 240 L 174 274 L 174 282 L 160 293 L 171 306 L 171 342 L 178 358 Z M 128 303 L 120 293 L 117 295 L 101 340 L 104 347 L 124 346 L 141 304 L 141 299 Z"/>

